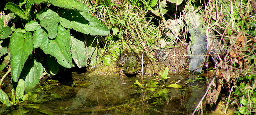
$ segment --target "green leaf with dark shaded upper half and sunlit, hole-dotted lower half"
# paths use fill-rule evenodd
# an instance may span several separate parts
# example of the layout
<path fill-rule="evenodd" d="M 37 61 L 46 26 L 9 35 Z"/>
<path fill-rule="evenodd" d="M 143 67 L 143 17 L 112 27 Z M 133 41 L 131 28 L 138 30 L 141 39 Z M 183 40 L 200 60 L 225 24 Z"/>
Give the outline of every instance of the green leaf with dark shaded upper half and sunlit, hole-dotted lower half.
<path fill-rule="evenodd" d="M 74 29 L 78 32 L 89 34 L 89 22 L 76 10 L 58 10 L 60 15 L 60 24 L 65 28 Z"/>

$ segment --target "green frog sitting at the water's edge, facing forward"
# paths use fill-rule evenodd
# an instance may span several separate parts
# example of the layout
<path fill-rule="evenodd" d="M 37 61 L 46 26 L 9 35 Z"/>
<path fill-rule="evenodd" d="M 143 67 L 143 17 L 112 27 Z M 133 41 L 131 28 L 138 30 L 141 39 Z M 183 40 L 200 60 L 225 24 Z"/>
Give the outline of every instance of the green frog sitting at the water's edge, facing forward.
<path fill-rule="evenodd" d="M 148 64 L 148 57 L 143 54 L 143 74 L 146 72 L 146 66 Z M 124 75 L 135 75 L 141 72 L 142 69 L 142 55 L 139 55 L 134 52 L 128 52 L 125 50 L 118 57 L 117 66 L 119 66 L 118 74 L 120 77 L 124 77 Z"/>

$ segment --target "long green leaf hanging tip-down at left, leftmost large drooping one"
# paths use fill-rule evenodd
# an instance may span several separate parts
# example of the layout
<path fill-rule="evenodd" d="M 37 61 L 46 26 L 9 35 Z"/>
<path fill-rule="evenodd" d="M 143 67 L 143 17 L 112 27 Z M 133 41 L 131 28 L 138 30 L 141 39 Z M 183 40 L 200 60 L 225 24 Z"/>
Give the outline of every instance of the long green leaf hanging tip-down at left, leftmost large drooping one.
<path fill-rule="evenodd" d="M 32 34 L 30 32 L 25 34 L 14 32 L 10 38 L 9 51 L 11 55 L 12 79 L 14 82 L 17 82 L 28 56 L 33 51 Z"/>

